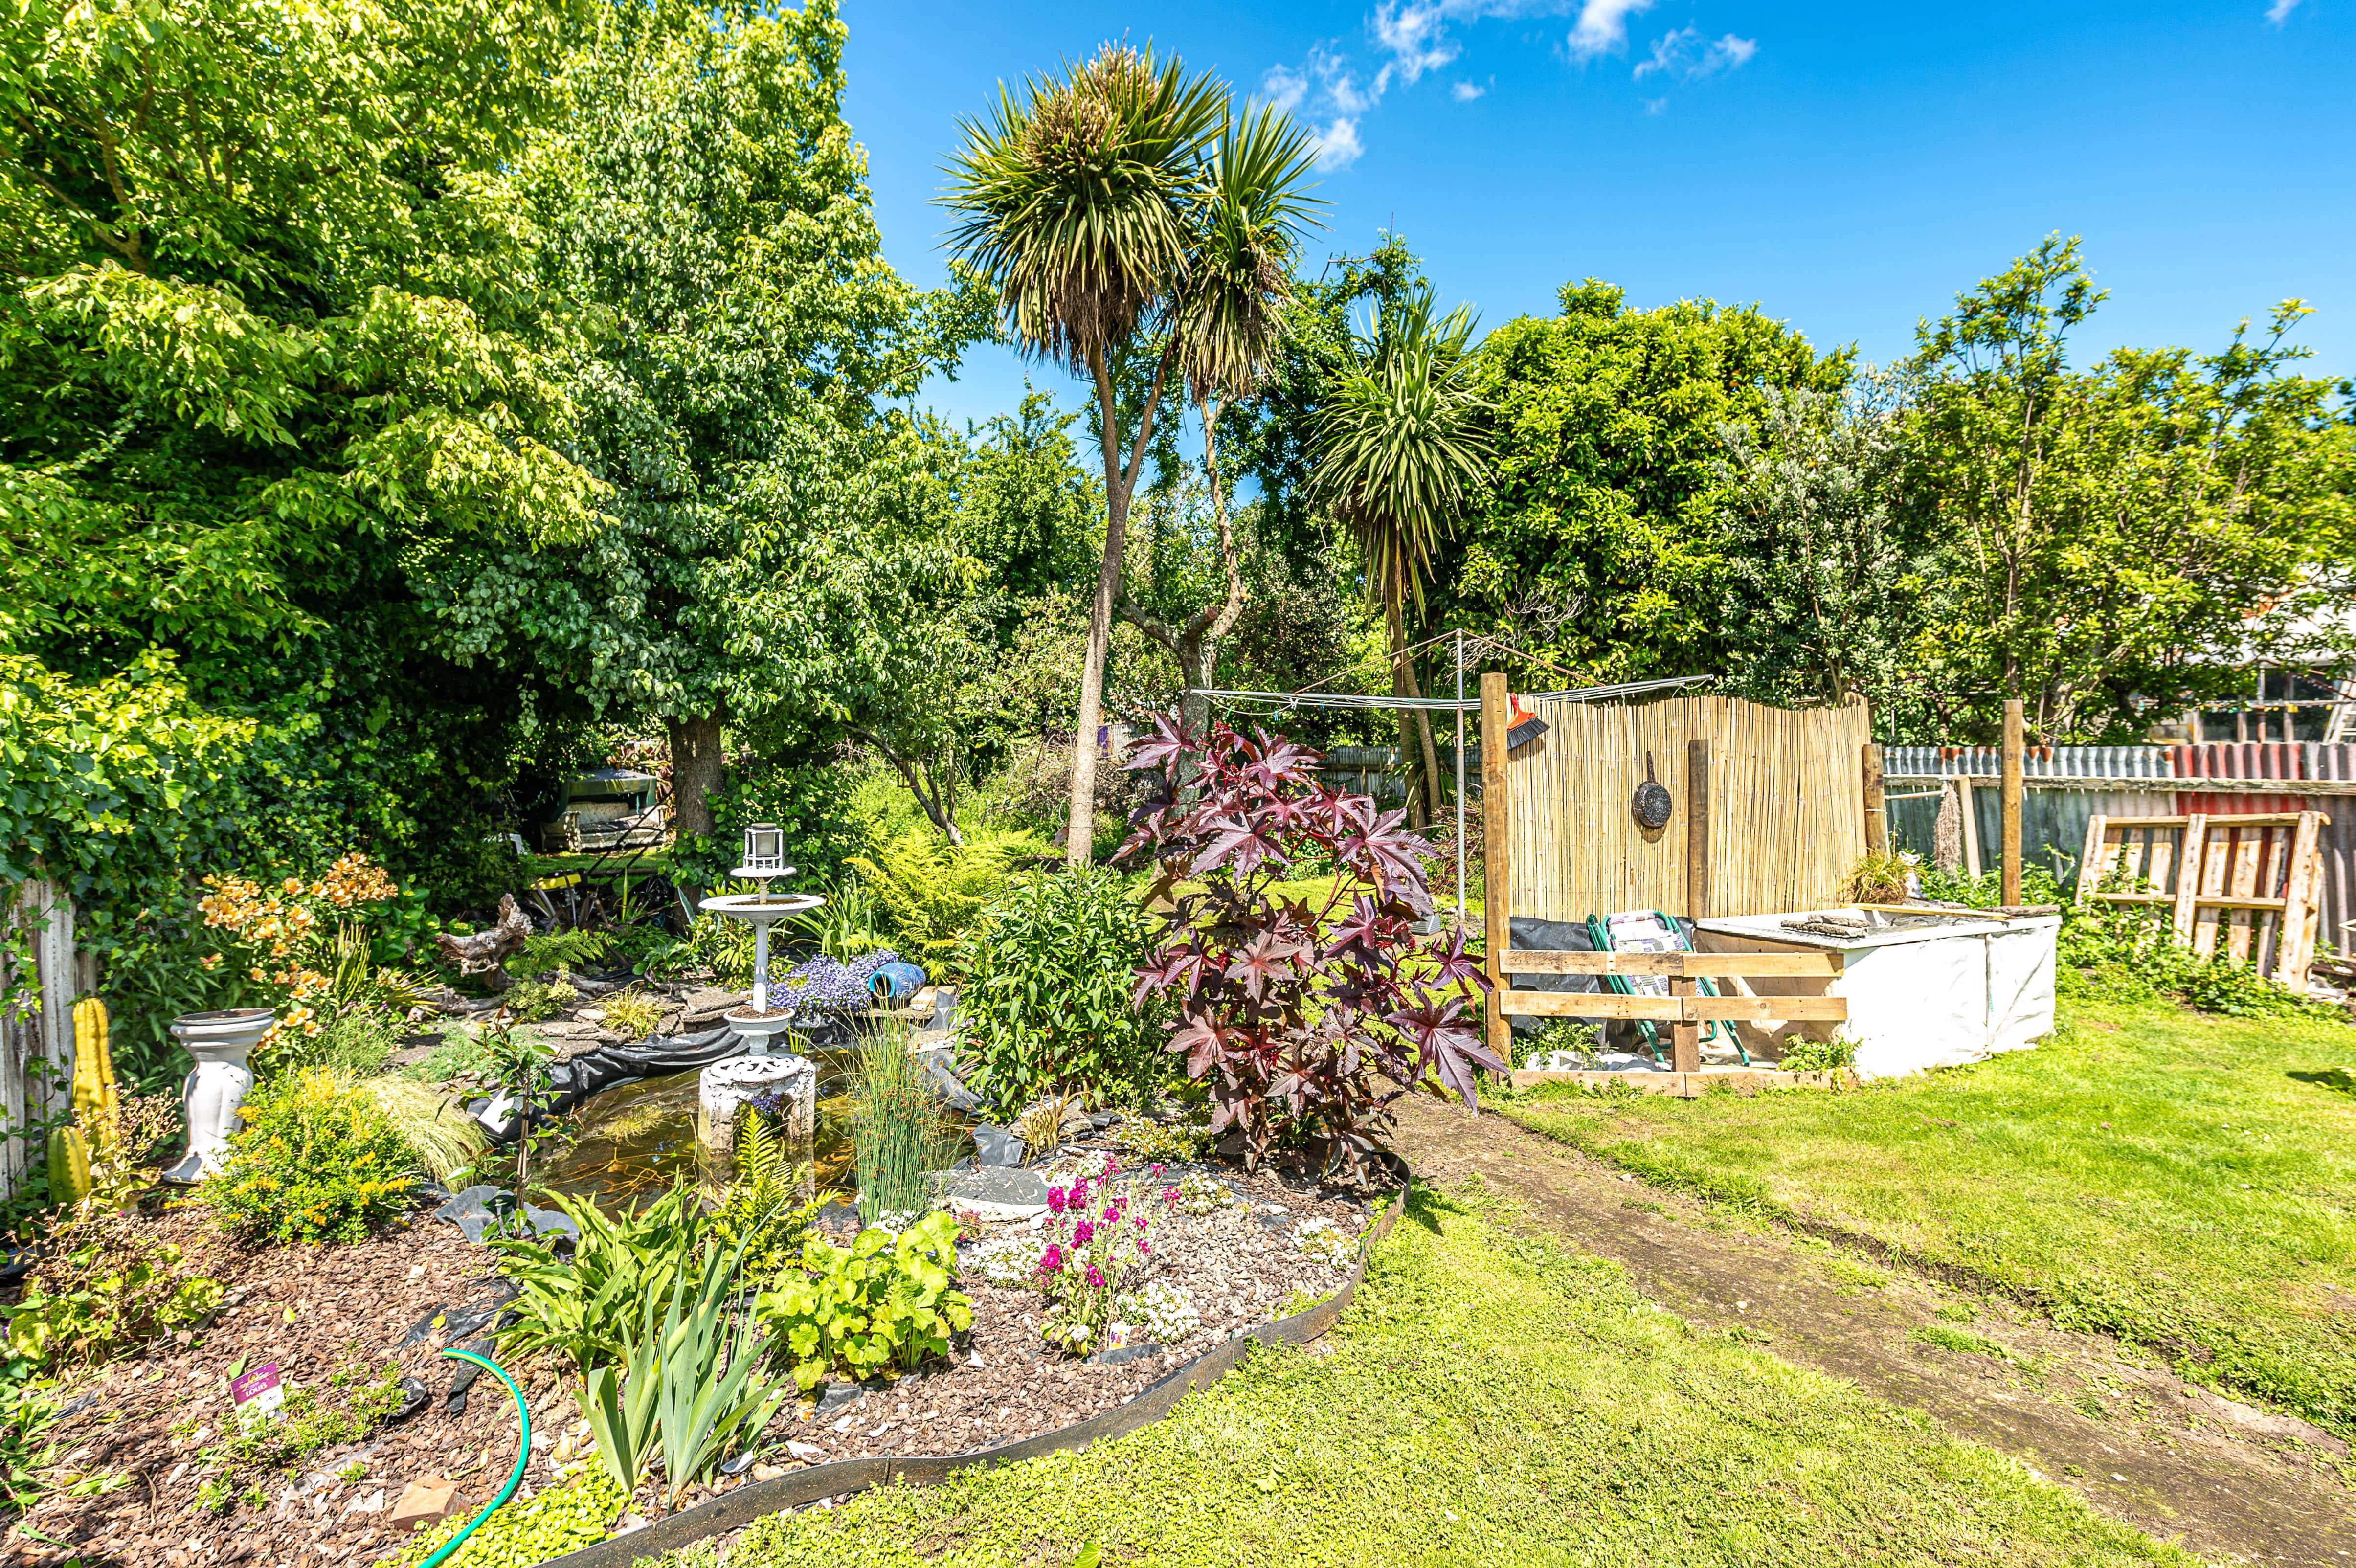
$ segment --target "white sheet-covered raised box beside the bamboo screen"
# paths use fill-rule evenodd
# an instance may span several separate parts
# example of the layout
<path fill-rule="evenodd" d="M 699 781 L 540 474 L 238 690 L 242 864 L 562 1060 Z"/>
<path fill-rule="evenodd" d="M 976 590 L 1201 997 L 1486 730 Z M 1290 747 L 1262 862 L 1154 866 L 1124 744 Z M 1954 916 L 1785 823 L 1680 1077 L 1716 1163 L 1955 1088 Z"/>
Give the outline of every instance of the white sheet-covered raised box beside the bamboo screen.
<path fill-rule="evenodd" d="M 1859 911 L 1838 911 L 1859 918 Z M 1833 1038 L 1857 1045 L 1859 1078 L 1897 1078 L 1963 1067 L 1998 1050 L 2036 1045 L 2054 1026 L 2054 932 L 2062 916 L 1955 918 L 1857 937 L 1786 930 L 1807 913 L 1701 921 L 1703 954 L 1809 949 L 1840 954 L 1835 979 L 1753 979 L 1758 996 L 1847 996 L 1845 1024 L 1762 1024 L 1746 1043 Z"/>

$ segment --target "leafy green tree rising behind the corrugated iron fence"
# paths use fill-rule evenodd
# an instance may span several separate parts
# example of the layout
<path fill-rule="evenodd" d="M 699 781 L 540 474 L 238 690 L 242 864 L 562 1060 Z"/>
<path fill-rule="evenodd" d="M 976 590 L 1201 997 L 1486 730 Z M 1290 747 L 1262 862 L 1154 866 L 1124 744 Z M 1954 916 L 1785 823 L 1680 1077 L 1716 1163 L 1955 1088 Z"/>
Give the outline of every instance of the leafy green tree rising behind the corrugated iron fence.
<path fill-rule="evenodd" d="M 2347 593 L 2356 410 L 2290 372 L 2307 306 L 2222 353 L 2073 370 L 2102 299 L 2052 235 L 1918 332 L 1911 485 L 1944 549 L 1920 664 L 1948 737 L 2021 697 L 2043 742 L 2137 739 Z"/>

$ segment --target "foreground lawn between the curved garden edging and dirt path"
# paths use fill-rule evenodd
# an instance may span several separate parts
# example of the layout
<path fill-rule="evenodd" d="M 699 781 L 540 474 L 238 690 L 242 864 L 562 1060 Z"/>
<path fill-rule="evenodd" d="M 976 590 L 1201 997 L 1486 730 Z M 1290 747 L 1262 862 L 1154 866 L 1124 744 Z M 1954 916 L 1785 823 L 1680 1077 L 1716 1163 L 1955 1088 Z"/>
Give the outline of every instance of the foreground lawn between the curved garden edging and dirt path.
<path fill-rule="evenodd" d="M 728 1568 L 2193 1561 L 1428 1194 L 1329 1351 L 1084 1455 L 768 1516 Z"/>

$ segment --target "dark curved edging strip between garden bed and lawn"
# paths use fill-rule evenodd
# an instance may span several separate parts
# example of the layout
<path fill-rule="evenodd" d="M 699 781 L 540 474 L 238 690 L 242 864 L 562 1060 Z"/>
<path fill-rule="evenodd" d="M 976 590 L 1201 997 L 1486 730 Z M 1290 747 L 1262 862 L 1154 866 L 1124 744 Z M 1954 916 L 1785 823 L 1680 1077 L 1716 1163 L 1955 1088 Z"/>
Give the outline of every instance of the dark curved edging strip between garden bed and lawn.
<path fill-rule="evenodd" d="M 1383 1217 L 1374 1222 L 1364 1241 L 1359 1241 L 1357 1264 L 1352 1264 L 1350 1278 L 1341 1283 L 1341 1290 L 1308 1311 L 1296 1311 L 1289 1318 L 1246 1328 L 1232 1340 L 1213 1344 L 1185 1366 L 1166 1373 L 1129 1403 L 1091 1415 L 1084 1422 L 1058 1427 L 1055 1431 L 1041 1431 L 1039 1436 L 1027 1436 L 1015 1443 L 1001 1443 L 975 1453 L 836 1460 L 834 1464 L 796 1469 L 770 1481 L 754 1481 L 735 1488 L 733 1493 L 697 1502 L 693 1509 L 681 1514 L 667 1514 L 643 1530 L 613 1535 L 594 1547 L 544 1559 L 540 1568 L 631 1568 L 631 1563 L 643 1556 L 679 1552 L 681 1547 L 693 1547 L 695 1542 L 723 1530 L 749 1526 L 763 1514 L 808 1507 L 820 1497 L 865 1493 L 867 1488 L 891 1486 L 893 1481 L 940 1486 L 949 1476 L 966 1469 L 1015 1464 L 1018 1460 L 1037 1460 L 1046 1453 L 1079 1453 L 1091 1443 L 1129 1436 L 1131 1431 L 1169 1415 L 1190 1389 L 1206 1389 L 1232 1373 L 1244 1361 L 1244 1351 L 1253 1340 L 1263 1344 L 1308 1344 L 1333 1328 L 1333 1321 L 1341 1318 L 1343 1307 L 1348 1307 L 1350 1297 L 1357 1293 L 1357 1283 L 1366 1278 L 1369 1253 L 1374 1253 L 1374 1248 L 1390 1236 L 1390 1227 L 1397 1224 L 1399 1212 L 1407 1208 L 1407 1189 L 1414 1175 L 1409 1172 L 1407 1161 L 1395 1154 L 1385 1156 L 1385 1165 L 1399 1180 L 1399 1196 L 1383 1210 Z"/>

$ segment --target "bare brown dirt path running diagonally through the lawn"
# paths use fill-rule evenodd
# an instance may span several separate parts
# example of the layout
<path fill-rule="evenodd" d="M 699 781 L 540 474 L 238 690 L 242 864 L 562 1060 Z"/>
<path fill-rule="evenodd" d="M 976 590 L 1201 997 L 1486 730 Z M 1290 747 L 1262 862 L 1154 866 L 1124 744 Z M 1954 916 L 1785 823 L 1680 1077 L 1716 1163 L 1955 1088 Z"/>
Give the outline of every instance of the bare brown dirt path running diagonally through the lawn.
<path fill-rule="evenodd" d="M 1529 1224 L 1619 1262 L 1696 1330 L 1922 1410 L 2153 1537 L 2224 1561 L 2356 1561 L 2347 1446 L 2297 1417 L 1861 1248 L 1748 1229 L 1501 1116 L 1414 1099 L 1397 1147 L 1418 1177 L 1477 1177 Z"/>

